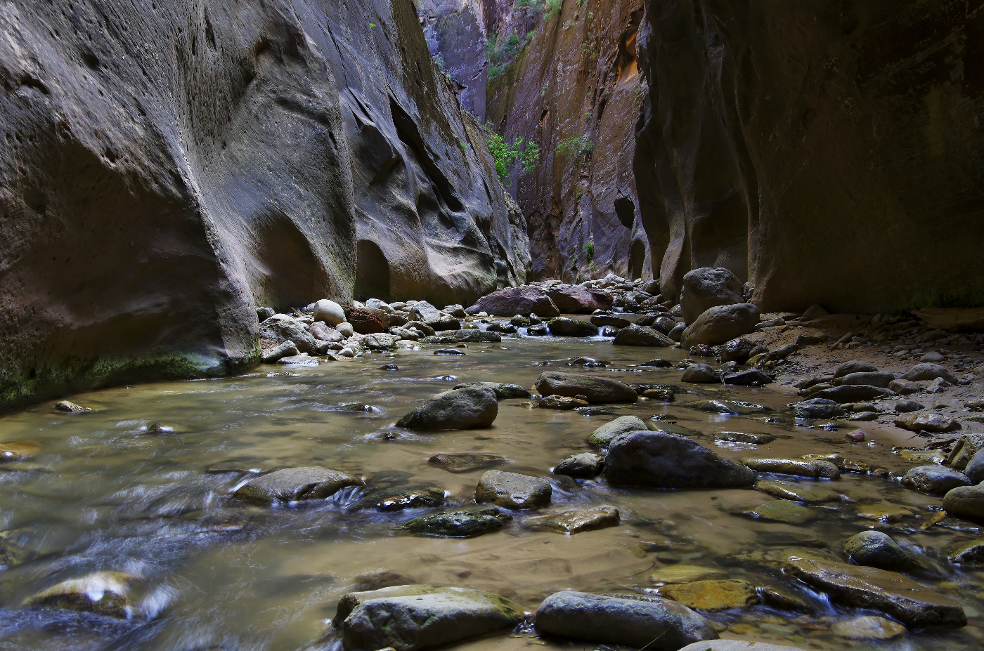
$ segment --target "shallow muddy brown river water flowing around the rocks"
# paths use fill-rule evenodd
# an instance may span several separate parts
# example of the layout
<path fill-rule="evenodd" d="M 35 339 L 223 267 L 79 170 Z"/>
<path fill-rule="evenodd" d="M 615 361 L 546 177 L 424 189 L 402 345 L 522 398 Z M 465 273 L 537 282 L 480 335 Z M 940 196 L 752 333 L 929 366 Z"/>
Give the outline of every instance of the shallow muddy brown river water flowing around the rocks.
<path fill-rule="evenodd" d="M 676 369 L 637 365 L 656 356 L 683 357 L 679 350 L 615 347 L 601 338 L 505 338 L 501 345 L 470 344 L 465 352 L 440 356 L 421 346 L 317 367 L 268 365 L 236 378 L 73 397 L 92 413 L 59 413 L 46 403 L 0 419 L 0 442 L 28 439 L 43 446 L 29 461 L 0 466 L 0 530 L 12 530 L 34 555 L 0 572 L 0 649 L 338 649 L 328 626 L 338 598 L 354 587 L 392 582 L 392 574 L 491 590 L 530 612 L 558 590 L 655 594 L 662 579 L 742 578 L 784 589 L 817 613 L 803 616 L 759 605 L 707 614 L 723 637 L 830 650 L 984 646 L 984 571 L 954 568 L 939 552 L 979 532 L 951 520 L 921 531 L 940 500 L 882 478 L 845 473 L 838 482 L 823 482 L 853 502 L 815 507 L 818 519 L 804 525 L 734 514 L 771 500 L 753 490 L 663 492 L 613 489 L 603 480 L 579 485 L 557 480 L 550 507 L 518 513 L 498 532 L 450 540 L 400 533 L 396 524 L 426 511 L 360 510 L 358 490 L 297 507 L 236 503 L 229 495 L 248 475 L 209 471 L 324 465 L 362 474 L 370 487 L 436 484 L 451 503 L 470 503 L 483 470 L 453 474 L 429 464 L 431 455 L 493 453 L 510 459 L 500 469 L 548 475 L 565 456 L 586 450 L 585 437 L 614 416 L 530 409 L 513 399 L 500 403 L 489 430 L 415 435 L 394 427 L 429 395 L 473 381 L 531 386 L 546 370 L 579 372 L 564 365 L 575 356 L 609 363 L 607 369 L 584 373 L 630 384 L 679 385 Z M 381 369 L 389 363 L 400 370 Z M 684 406 L 723 397 L 779 410 L 795 400 L 781 387 L 687 388 L 693 392 L 673 403 L 648 400 L 613 410 L 644 419 L 668 414 L 732 458 L 835 451 L 897 473 L 916 465 L 892 452 L 898 442 L 871 429 L 874 443 L 848 444 L 843 435 L 856 428 L 843 424 L 833 432 L 797 427 L 781 411 L 723 417 Z M 149 434 L 147 427 L 157 422 L 174 426 L 176 433 Z M 722 431 L 780 438 L 769 445 L 722 447 L 710 436 Z M 903 505 L 913 515 L 889 523 L 860 517 L 859 504 L 870 503 Z M 530 518 L 544 512 L 597 504 L 617 506 L 622 523 L 574 536 L 529 526 Z M 831 605 L 824 595 L 785 578 L 779 565 L 752 561 L 802 536 L 819 541 L 812 545 L 827 545 L 815 552 L 839 557 L 844 538 L 876 526 L 920 551 L 936 571 L 920 580 L 959 600 L 969 625 L 910 631 L 877 643 L 839 638 L 830 632 L 833 621 L 866 613 Z M 22 606 L 41 589 L 96 570 L 140 577 L 133 594 L 137 618 L 106 621 Z M 539 640 L 527 627 L 461 648 L 512 651 L 530 645 L 570 646 Z"/>

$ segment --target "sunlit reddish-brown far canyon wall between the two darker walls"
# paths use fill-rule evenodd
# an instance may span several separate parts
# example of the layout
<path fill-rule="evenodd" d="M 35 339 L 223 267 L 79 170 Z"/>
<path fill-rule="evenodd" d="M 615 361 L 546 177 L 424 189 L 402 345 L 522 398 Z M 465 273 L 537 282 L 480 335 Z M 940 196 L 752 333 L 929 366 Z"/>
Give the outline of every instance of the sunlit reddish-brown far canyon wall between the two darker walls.
<path fill-rule="evenodd" d="M 567 0 L 490 82 L 488 119 L 541 152 L 532 174 L 517 168 L 508 182 L 528 222 L 533 277 L 652 275 L 633 173 L 642 15 L 638 0 Z"/>

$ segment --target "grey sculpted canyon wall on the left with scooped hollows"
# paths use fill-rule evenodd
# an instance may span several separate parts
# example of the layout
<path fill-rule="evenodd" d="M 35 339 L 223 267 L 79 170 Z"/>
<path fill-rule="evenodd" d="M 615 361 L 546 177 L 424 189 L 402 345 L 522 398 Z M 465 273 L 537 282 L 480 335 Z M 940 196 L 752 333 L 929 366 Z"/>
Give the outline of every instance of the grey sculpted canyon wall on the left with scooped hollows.
<path fill-rule="evenodd" d="M 257 305 L 523 280 L 409 0 L 4 1 L 0 29 L 0 409 L 246 368 Z"/>

